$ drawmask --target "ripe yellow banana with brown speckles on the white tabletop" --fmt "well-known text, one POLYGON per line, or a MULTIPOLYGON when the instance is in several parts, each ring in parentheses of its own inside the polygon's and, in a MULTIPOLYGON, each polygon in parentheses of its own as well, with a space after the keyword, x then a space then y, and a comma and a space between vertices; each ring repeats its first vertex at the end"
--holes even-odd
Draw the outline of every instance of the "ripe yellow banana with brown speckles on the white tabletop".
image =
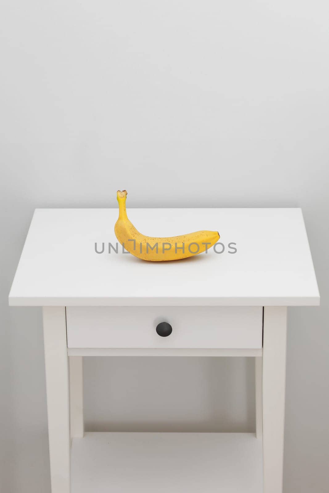
POLYGON ((142 235, 129 221, 126 211, 127 191, 116 194, 119 218, 115 223, 115 236, 124 248, 143 260, 159 262, 192 257, 211 248, 219 240, 218 231, 196 231, 171 238, 153 238, 142 235))

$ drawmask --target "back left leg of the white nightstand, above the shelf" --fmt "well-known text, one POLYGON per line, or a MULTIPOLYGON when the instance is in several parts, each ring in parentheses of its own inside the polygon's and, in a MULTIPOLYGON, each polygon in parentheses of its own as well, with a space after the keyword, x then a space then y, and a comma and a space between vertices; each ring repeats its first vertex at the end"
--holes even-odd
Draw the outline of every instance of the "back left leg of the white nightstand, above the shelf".
POLYGON ((83 438, 83 358, 70 356, 70 427, 72 438, 83 438))

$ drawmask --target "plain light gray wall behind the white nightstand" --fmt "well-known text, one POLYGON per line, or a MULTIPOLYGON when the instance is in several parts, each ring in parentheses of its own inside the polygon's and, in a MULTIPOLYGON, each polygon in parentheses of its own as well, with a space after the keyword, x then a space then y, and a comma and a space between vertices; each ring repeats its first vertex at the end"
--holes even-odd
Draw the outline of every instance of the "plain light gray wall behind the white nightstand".
MULTIPOLYGON (((33 211, 126 188, 131 208, 302 207, 322 306, 289 310, 284 492, 328 493, 328 2, 0 14, 1 492, 50 491, 41 311, 7 306, 33 211)), ((90 358, 87 428, 253 430, 253 377, 245 359, 90 358)))

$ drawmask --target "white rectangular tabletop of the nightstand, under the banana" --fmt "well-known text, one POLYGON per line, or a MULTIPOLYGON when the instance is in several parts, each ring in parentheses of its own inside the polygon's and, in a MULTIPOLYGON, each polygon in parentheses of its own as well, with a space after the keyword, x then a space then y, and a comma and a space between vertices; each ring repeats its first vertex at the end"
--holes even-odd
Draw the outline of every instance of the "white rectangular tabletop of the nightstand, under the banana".
POLYGON ((173 262, 146 262, 123 253, 120 245, 115 253, 117 217, 117 209, 37 209, 9 304, 301 306, 320 303, 300 209, 128 210, 136 228, 149 236, 219 231, 218 253, 211 248, 207 253, 173 262), (95 243, 98 251, 102 251, 104 243, 103 253, 95 251, 95 243), (109 243, 114 247, 110 253, 109 243))

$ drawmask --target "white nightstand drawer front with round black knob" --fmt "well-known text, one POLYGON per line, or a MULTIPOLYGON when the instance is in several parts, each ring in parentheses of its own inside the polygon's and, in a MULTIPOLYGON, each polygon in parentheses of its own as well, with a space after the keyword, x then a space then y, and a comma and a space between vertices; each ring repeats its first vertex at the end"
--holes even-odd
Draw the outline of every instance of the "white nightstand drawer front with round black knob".
POLYGON ((260 349, 262 307, 67 307, 69 348, 260 349))

